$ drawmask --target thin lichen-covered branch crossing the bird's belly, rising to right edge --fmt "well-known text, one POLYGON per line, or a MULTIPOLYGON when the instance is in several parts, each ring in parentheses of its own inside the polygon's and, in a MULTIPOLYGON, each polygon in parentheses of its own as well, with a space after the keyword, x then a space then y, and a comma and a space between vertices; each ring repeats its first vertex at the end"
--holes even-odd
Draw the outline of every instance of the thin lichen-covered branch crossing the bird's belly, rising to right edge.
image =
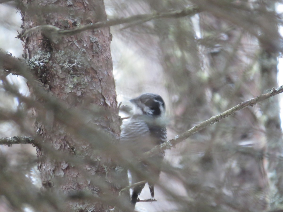
POLYGON ((244 109, 245 107, 248 106, 254 106, 256 103, 259 103, 267 98, 270 98, 272 96, 275 96, 277 94, 280 94, 283 92, 283 85, 280 86, 279 88, 275 89, 273 88, 271 92, 266 93, 266 94, 262 94, 260 96, 257 96, 255 98, 252 98, 250 100, 247 101, 243 101, 241 103, 239 103, 238 105, 236 105, 235 107, 232 107, 231 109, 220 113, 216 116, 213 116, 211 118, 209 118, 206 121, 201 122, 200 124, 192 127, 191 129, 189 129, 188 131, 182 133, 181 135, 177 135, 175 136, 174 139, 169 140, 168 142, 165 142, 163 144, 160 144, 158 146, 155 146, 153 149, 151 149, 148 152, 145 152, 143 154, 143 158, 148 158, 151 155, 154 155, 156 152, 160 151, 160 150, 167 150, 170 149, 171 147, 174 147, 176 144, 179 144, 180 142, 186 140, 188 137, 190 137, 191 135, 194 135, 195 133, 197 133, 198 131, 204 129, 205 127, 214 124, 216 122, 219 122, 221 119, 226 118, 228 116, 233 115, 235 112, 244 109))

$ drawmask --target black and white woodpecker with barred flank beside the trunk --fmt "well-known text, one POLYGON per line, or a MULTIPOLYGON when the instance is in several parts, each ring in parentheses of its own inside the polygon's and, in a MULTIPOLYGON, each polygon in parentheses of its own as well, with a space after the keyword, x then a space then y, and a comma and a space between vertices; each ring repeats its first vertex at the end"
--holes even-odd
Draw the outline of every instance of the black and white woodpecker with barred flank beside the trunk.
MULTIPOLYGON (((134 158, 166 142, 165 103, 161 96, 152 93, 142 94, 130 102, 135 105, 135 112, 123 128, 120 142, 130 150, 134 158)), ((159 179, 163 158, 164 152, 160 152, 130 168, 132 183, 147 181, 153 199, 154 184, 159 179)), ((133 188, 133 207, 144 186, 145 184, 141 184, 133 188)))

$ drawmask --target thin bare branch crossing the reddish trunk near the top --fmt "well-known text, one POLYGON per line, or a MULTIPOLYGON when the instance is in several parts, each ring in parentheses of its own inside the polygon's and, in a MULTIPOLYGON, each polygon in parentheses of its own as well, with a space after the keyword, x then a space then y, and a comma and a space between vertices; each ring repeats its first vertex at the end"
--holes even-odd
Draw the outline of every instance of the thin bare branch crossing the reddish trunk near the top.
POLYGON ((127 18, 115 18, 115 19, 110 19, 108 21, 102 21, 98 23, 90 23, 87 25, 82 25, 82 26, 75 27, 69 30, 62 30, 52 25, 41 25, 41 26, 36 26, 36 27, 33 27, 25 31, 22 35, 19 34, 18 38, 25 37, 28 34, 33 33, 34 31, 37 31, 37 30, 47 31, 48 33, 53 32, 53 33, 57 33, 57 35, 67 36, 67 35, 74 35, 74 34, 77 34, 77 33, 80 33, 86 30, 90 30, 90 29, 110 27, 110 26, 119 25, 123 23, 137 22, 138 24, 140 24, 140 23, 144 23, 146 21, 150 21, 150 20, 158 19, 158 18, 181 18, 185 16, 193 16, 198 12, 200 12, 200 9, 198 7, 190 6, 190 7, 185 7, 183 10, 174 10, 174 11, 164 12, 164 13, 154 12, 151 14, 140 14, 140 15, 130 16, 127 18))

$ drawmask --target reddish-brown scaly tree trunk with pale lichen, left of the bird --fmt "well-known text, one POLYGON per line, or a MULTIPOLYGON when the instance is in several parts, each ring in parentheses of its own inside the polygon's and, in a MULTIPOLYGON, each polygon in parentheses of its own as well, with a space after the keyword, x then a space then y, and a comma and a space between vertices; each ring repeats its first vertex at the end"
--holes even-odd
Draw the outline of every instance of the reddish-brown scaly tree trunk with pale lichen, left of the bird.
MULTIPOLYGON (((102 0, 60 0, 52 3, 25 0, 21 10, 24 30, 46 24, 70 29, 107 19, 102 0)), ((80 109, 76 115, 87 120, 86 126, 95 126, 99 132, 104 130, 114 137, 119 136, 120 119, 110 40, 109 28, 64 37, 55 37, 52 31, 36 31, 23 39, 24 57, 34 64, 37 80, 66 108, 71 109, 70 116, 61 113, 61 108, 35 111, 37 134, 47 144, 37 149, 42 186, 45 190, 53 191, 61 201, 62 198, 66 200, 63 207, 59 205, 60 201, 56 206, 64 211, 109 210, 111 204, 101 202, 99 198, 97 201, 70 199, 70 194, 80 199, 76 195, 78 191, 94 197, 102 196, 104 191, 99 181, 94 181, 91 176, 97 176, 96 179, 109 185, 113 193, 117 193, 122 186, 113 183, 111 175, 115 167, 110 157, 95 148, 106 141, 98 140, 99 137, 95 136, 87 137, 87 127, 81 126, 85 123, 76 120, 76 116, 72 117, 72 113, 76 113, 72 109, 80 109), (52 146, 51 149, 48 144, 52 146), (62 158, 59 157, 60 153, 62 158), (79 167, 70 163, 64 155, 75 155, 88 162, 79 167), (60 196, 62 192, 66 195, 60 196)), ((37 98, 35 90, 31 92, 37 98)), ((127 173, 123 172, 121 177, 127 178, 127 173)))

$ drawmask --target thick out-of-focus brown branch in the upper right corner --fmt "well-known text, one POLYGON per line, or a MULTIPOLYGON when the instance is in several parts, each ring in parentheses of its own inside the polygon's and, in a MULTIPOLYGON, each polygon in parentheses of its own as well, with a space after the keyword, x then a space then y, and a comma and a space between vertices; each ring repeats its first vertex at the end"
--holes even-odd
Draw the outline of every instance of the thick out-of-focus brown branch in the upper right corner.
POLYGON ((276 17, 274 11, 269 11, 266 5, 257 8, 249 7, 241 1, 192 0, 191 2, 198 5, 201 11, 210 12, 245 29, 258 38, 267 51, 272 53, 282 51, 282 36, 277 28, 280 18, 276 17))

